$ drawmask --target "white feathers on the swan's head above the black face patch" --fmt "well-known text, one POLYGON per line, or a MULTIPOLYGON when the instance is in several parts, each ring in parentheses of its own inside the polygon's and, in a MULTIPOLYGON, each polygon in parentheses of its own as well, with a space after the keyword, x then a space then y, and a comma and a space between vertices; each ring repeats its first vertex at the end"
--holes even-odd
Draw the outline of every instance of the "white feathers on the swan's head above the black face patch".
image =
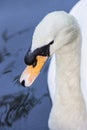
POLYGON ((67 40, 72 40, 70 35, 73 35, 72 31, 77 33, 76 30, 74 30, 74 27, 77 25, 73 16, 64 11, 49 13, 35 28, 31 51, 34 51, 36 48, 43 45, 47 45, 54 40, 54 44, 50 46, 50 55, 52 55, 55 50, 62 46, 62 44, 66 44, 67 40), (72 31, 70 32, 70 30, 72 31), (68 35, 65 35, 66 32, 68 35), (62 35, 65 35, 65 37, 62 38, 62 35), (58 44, 56 41, 58 41, 58 44))

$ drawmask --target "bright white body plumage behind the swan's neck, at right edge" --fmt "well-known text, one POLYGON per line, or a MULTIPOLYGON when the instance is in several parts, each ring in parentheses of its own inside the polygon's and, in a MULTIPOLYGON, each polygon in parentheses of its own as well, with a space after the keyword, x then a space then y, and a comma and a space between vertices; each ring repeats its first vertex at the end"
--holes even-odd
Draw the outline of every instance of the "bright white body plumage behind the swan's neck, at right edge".
POLYGON ((78 20, 82 32, 81 48, 81 89, 87 108, 87 0, 80 0, 71 10, 78 20))

